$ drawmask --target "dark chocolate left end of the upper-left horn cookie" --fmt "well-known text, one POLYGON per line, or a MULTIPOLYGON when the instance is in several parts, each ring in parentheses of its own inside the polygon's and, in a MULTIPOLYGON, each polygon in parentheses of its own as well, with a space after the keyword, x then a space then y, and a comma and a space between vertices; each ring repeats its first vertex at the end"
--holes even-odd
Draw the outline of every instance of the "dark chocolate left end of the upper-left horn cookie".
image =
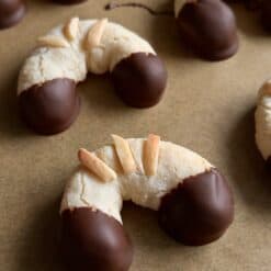
POLYGON ((76 120, 80 99, 70 79, 54 79, 19 95, 22 118, 35 132, 50 135, 68 128, 76 120))

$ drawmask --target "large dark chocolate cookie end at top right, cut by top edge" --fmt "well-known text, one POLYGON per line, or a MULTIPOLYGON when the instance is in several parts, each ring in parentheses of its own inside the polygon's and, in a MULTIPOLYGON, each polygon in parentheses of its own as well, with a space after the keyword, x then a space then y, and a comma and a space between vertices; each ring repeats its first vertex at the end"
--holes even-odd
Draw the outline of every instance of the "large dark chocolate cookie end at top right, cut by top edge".
POLYGON ((238 49, 235 15, 221 0, 188 1, 177 23, 181 39, 202 58, 222 60, 238 49))

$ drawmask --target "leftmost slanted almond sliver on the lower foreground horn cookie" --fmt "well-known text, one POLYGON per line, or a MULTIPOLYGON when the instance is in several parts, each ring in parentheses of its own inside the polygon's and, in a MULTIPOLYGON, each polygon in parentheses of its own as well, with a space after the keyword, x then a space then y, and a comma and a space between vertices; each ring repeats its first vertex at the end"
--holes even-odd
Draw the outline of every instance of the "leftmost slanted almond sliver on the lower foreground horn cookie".
POLYGON ((80 148, 78 151, 78 158, 86 168, 95 173, 103 182, 116 179, 115 171, 87 149, 80 148))

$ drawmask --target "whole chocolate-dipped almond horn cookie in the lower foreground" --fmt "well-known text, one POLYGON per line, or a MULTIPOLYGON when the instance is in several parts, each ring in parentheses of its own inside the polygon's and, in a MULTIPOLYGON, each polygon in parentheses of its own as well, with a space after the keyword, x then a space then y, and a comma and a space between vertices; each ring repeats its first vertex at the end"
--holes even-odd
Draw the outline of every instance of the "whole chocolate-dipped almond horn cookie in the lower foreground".
POLYGON ((71 270, 128 270, 133 246, 123 201, 157 211, 161 228, 185 245, 208 244, 226 232, 232 191, 207 160, 156 135, 112 137, 113 145, 79 150, 81 166, 64 191, 61 249, 71 270))

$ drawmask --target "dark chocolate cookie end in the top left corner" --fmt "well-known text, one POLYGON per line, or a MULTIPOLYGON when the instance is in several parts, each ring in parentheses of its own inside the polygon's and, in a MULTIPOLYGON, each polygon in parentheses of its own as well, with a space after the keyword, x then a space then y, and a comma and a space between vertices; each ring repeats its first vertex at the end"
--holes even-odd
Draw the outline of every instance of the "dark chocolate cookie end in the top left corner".
POLYGON ((0 0, 0 30, 19 23, 26 8, 23 0, 0 0))

